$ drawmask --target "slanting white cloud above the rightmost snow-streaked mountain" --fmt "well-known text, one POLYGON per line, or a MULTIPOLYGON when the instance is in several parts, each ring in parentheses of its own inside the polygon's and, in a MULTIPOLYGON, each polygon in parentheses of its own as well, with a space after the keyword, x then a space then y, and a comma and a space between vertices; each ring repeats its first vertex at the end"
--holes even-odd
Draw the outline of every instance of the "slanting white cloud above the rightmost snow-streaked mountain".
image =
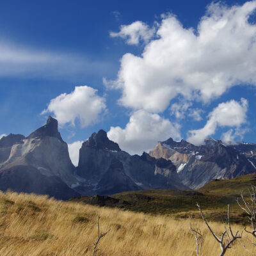
MULTIPOLYGON (((202 145, 205 138, 215 133, 218 126, 240 127, 246 122, 246 112, 248 102, 241 99, 241 103, 236 100, 223 102, 213 109, 208 115, 208 121, 202 129, 189 131, 188 141, 195 145, 202 145)), ((230 135, 227 134, 226 137, 230 135)))

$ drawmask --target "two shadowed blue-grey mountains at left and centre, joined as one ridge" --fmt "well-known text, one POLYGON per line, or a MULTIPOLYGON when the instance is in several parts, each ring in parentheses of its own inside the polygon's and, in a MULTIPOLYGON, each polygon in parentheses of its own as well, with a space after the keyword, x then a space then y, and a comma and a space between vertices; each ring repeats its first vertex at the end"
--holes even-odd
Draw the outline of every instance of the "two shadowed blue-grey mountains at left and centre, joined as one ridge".
POLYGON ((67 143, 51 116, 28 137, 10 134, 0 140, 0 189, 68 199, 79 195, 110 195, 150 188, 186 189, 170 160, 147 153, 131 156, 108 139, 93 133, 79 152, 75 167, 67 143))

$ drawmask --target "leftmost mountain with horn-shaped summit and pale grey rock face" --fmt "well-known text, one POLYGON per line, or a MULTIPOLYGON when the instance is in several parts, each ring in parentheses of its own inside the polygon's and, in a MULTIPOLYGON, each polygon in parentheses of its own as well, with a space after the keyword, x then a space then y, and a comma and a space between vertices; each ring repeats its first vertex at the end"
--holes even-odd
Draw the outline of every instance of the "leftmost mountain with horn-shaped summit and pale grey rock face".
POLYGON ((69 188, 77 181, 75 167, 68 156, 67 143, 58 132, 58 122, 51 116, 27 138, 19 134, 3 137, 0 152, 1 190, 10 188, 60 199, 79 195, 69 188))

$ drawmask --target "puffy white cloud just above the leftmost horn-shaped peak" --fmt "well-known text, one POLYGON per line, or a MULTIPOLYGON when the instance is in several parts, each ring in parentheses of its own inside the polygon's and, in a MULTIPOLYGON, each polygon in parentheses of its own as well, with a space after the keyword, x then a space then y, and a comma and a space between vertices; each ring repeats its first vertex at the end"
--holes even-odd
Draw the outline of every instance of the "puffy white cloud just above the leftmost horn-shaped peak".
POLYGON ((52 99, 42 114, 53 112, 60 124, 75 124, 79 119, 81 127, 95 124, 99 115, 106 110, 104 97, 89 86, 76 86, 72 93, 62 93, 52 99))

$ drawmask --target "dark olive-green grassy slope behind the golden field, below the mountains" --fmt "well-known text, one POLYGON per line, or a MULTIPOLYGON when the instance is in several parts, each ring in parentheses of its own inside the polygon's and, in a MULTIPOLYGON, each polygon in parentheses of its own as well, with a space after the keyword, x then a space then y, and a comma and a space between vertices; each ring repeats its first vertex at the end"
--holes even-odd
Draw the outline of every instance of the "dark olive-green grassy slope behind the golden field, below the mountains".
POLYGON ((124 209, 152 214, 169 214, 175 218, 189 215, 200 218, 196 202, 206 211, 211 220, 223 221, 226 218, 227 204, 233 209, 232 221, 244 222, 244 212, 237 206, 236 199, 241 191, 256 185, 256 173, 232 180, 212 180, 197 191, 177 191, 173 189, 150 189, 127 191, 113 195, 114 198, 129 202, 124 209))

